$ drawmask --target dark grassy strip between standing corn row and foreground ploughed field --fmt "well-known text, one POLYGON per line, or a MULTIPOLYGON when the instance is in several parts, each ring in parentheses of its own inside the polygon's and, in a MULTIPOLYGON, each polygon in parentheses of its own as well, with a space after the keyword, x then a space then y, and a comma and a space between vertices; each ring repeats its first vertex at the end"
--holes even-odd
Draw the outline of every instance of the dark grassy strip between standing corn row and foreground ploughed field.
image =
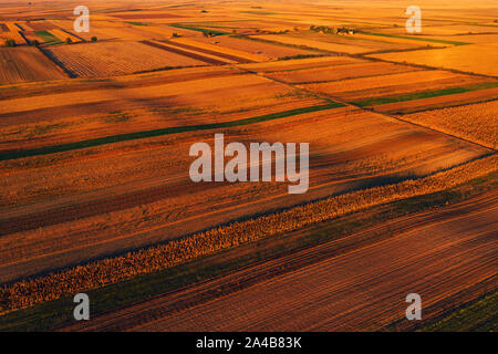
MULTIPOLYGON (((92 315, 110 312, 134 302, 173 291, 196 281, 237 270, 241 267, 276 258, 303 247, 355 233, 362 229, 413 212, 422 212, 448 204, 460 202, 498 187, 498 174, 494 173, 467 181, 456 188, 414 197, 384 207, 373 207, 339 219, 308 227, 298 231, 301 237, 281 235, 259 240, 238 249, 203 257, 159 272, 138 275, 131 280, 86 292, 92 302, 92 315), (304 235, 304 237, 302 237, 304 235), (248 249, 249 252, 240 250, 248 249)), ((390 237, 390 236, 386 236, 390 237)), ((46 331, 72 321, 72 296, 39 303, 0 316, 0 331, 46 331)))

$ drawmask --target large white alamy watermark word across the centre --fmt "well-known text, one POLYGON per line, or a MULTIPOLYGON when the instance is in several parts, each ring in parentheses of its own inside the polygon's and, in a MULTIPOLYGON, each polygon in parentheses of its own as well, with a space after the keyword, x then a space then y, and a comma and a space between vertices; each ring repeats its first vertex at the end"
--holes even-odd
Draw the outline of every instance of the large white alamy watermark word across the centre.
POLYGON ((242 143, 225 146, 224 134, 216 134, 214 149, 207 143, 196 143, 190 147, 190 156, 197 157, 189 171, 195 183, 283 183, 287 177, 289 183, 294 184, 288 187, 289 194, 304 194, 309 188, 309 143, 300 143, 299 153, 297 143, 250 143, 247 148, 242 143), (225 157, 231 159, 225 164, 225 157))

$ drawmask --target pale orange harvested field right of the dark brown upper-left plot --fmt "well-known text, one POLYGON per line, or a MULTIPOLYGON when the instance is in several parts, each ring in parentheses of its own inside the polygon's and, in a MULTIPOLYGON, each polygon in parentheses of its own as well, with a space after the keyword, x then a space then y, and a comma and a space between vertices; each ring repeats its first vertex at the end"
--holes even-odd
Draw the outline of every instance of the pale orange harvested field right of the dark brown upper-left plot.
POLYGON ((164 53, 136 42, 84 43, 51 49, 53 55, 69 70, 83 77, 124 75, 168 66, 204 64, 191 58, 164 53))

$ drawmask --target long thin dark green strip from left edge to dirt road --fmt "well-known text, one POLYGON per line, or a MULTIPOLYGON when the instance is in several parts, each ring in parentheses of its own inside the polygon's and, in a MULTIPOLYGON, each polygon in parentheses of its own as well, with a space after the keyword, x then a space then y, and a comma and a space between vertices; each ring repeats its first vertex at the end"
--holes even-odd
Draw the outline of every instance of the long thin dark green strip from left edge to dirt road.
POLYGON ((157 136, 163 136, 163 135, 250 125, 250 124, 268 122, 268 121, 273 121, 273 119, 280 119, 280 118, 286 118, 286 117, 311 113, 311 112, 338 108, 338 107, 342 107, 342 106, 344 106, 344 105, 341 103, 332 103, 332 104, 324 104, 324 105, 319 105, 319 106, 311 106, 311 107, 297 108, 297 110, 291 110, 291 111, 286 111, 286 112, 279 112, 279 113, 273 113, 273 114, 267 114, 267 115, 261 115, 261 116, 245 118, 245 119, 238 119, 238 121, 211 123, 211 124, 199 124, 199 125, 187 125, 187 126, 176 126, 176 127, 154 129, 154 131, 145 131, 145 132, 136 132, 136 133, 105 136, 105 137, 100 137, 100 138, 95 138, 95 139, 81 140, 81 142, 68 143, 68 144, 55 145, 55 146, 45 146, 45 147, 33 148, 33 149, 15 150, 15 152, 0 154, 0 162, 23 158, 23 157, 32 157, 32 156, 55 154, 55 153, 62 153, 62 152, 70 152, 70 150, 83 149, 83 148, 87 148, 87 147, 95 147, 95 146, 101 146, 101 145, 106 145, 106 144, 129 142, 129 140, 143 139, 143 138, 149 138, 149 137, 157 137, 157 136))

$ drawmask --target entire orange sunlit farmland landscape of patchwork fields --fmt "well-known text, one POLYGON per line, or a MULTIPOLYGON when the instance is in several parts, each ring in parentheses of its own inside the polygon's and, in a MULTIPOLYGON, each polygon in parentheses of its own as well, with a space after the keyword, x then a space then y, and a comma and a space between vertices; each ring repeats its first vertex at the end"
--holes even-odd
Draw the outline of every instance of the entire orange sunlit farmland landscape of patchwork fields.
POLYGON ((0 0, 0 331, 498 330, 498 1, 83 2, 0 0))

